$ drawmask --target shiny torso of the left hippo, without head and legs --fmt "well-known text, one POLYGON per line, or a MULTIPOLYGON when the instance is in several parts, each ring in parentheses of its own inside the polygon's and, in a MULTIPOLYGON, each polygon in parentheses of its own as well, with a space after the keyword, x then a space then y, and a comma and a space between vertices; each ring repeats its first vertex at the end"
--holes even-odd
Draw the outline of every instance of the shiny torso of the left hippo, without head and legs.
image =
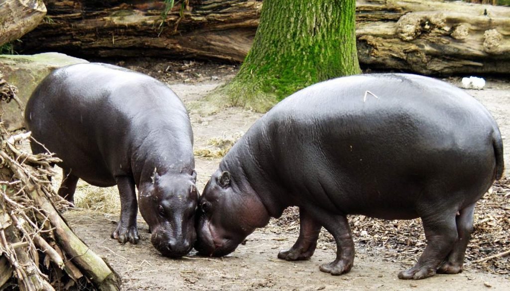
POLYGON ((97 186, 115 184, 116 175, 134 175, 138 182, 141 169, 134 165, 150 158, 194 161, 191 124, 179 97, 152 77, 115 66, 55 70, 32 94, 25 122, 37 141, 62 158, 63 168, 97 186))

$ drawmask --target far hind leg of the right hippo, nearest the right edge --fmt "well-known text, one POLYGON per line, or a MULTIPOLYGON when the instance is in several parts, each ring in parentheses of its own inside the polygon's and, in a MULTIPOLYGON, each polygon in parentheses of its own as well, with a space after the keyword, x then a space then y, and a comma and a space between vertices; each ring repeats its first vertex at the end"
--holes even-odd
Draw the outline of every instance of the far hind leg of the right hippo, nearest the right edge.
POLYGON ((439 266, 439 274, 458 274, 462 272, 464 255, 468 246, 471 233, 473 232, 473 215, 475 204, 459 211, 455 221, 457 224, 458 239, 446 260, 439 266))

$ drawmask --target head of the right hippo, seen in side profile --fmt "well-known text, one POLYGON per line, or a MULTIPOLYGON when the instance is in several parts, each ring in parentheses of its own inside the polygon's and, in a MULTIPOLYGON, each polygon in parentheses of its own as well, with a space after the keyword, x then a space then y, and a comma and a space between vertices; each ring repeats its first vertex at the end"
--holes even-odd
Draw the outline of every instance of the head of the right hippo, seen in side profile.
MULTIPOLYGON (((243 180, 246 182, 246 180, 243 180)), ((233 252, 257 227, 269 222, 269 214, 257 193, 217 170, 199 199, 196 217, 200 255, 224 256, 233 252)))

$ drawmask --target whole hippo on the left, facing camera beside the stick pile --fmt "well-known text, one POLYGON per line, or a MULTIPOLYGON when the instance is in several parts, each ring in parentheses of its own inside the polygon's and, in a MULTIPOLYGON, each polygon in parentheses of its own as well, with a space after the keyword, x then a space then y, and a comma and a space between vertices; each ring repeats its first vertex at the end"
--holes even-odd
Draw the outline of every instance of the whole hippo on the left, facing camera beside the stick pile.
POLYGON ((114 239, 138 243, 136 186, 152 245, 170 257, 191 250, 198 201, 193 133, 184 104, 165 84, 112 65, 66 66, 36 88, 25 124, 37 141, 34 153, 62 159, 60 196, 74 202, 79 178, 117 185, 114 239))

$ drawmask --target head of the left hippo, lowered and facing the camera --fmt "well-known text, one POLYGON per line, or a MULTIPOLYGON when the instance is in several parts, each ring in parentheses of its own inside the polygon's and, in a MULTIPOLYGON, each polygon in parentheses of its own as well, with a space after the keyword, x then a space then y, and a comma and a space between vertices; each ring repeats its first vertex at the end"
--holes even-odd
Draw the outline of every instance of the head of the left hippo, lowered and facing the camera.
POLYGON ((193 248, 198 201, 195 182, 195 170, 161 176, 155 171, 150 182, 140 185, 140 213, 149 225, 150 242, 164 256, 181 257, 193 248))

